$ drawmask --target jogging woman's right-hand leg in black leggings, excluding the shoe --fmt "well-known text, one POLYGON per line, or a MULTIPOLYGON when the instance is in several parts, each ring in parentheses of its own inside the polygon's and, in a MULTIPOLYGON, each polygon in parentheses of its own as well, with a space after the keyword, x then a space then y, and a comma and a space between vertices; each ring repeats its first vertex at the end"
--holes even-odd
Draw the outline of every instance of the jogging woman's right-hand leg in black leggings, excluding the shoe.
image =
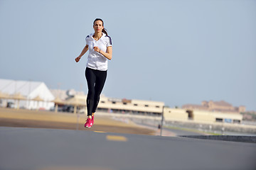
POLYGON ((96 112, 97 105, 100 101, 100 94, 104 87, 105 81, 107 78, 107 71, 99 71, 97 70, 97 78, 95 81, 95 96, 94 96, 94 103, 92 108, 92 113, 96 112))

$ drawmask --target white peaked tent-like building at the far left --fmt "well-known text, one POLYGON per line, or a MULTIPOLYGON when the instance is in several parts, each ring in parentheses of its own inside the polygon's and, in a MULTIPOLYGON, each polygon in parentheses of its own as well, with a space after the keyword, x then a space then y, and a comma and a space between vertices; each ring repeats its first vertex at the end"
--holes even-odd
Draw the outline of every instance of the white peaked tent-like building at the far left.
MULTIPOLYGON (((54 96, 43 82, 40 81, 16 81, 10 79, 0 79, 0 92, 9 96, 20 94, 24 100, 19 101, 19 108, 26 109, 46 109, 49 110, 54 106, 54 96), (41 98, 42 101, 33 101, 33 98, 41 98)), ((1 99, 1 106, 6 107, 8 102, 14 103, 14 108, 17 107, 17 102, 14 99, 1 99)))

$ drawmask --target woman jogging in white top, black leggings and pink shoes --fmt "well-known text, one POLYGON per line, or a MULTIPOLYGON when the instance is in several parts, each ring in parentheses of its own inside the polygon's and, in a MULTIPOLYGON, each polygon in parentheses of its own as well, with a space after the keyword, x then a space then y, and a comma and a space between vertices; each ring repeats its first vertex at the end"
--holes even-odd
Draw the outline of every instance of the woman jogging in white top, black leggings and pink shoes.
POLYGON ((94 123, 94 114, 107 78, 107 60, 112 59, 112 40, 107 35, 102 19, 96 18, 93 22, 93 28, 95 33, 87 35, 84 49, 75 58, 75 62, 79 62, 82 55, 89 50, 85 69, 85 78, 88 86, 86 99, 88 117, 85 128, 91 128, 94 123))

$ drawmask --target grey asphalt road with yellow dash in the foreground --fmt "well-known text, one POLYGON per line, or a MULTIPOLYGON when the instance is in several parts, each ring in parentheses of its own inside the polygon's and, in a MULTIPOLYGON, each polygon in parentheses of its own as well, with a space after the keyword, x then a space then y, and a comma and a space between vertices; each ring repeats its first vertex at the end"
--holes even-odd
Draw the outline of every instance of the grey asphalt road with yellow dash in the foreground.
POLYGON ((0 169, 256 169, 256 145, 87 130, 0 128, 0 169))

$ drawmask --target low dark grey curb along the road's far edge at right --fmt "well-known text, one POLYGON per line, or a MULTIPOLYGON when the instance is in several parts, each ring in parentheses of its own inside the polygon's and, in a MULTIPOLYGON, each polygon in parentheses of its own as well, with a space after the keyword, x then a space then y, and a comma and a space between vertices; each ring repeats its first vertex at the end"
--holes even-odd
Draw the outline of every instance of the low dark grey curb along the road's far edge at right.
POLYGON ((224 140, 224 141, 232 141, 232 142, 248 142, 248 143, 256 143, 256 136, 233 136, 233 135, 185 135, 179 137, 190 137, 201 140, 224 140))

